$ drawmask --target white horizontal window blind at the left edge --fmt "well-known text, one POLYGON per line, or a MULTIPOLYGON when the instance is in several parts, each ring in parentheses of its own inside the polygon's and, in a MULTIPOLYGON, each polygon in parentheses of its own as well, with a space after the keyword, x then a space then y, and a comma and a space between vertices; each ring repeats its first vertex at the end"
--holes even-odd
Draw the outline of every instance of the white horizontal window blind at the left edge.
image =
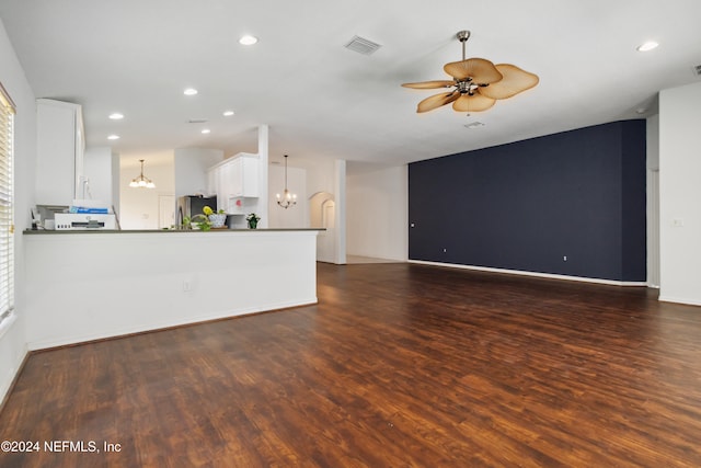
POLYGON ((0 322, 14 309, 14 103, 0 83, 0 322))

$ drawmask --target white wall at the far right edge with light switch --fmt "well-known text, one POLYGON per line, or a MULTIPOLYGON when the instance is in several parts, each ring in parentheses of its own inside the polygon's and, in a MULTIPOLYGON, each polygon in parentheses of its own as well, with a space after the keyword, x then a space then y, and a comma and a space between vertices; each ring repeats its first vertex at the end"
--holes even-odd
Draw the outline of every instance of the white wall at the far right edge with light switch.
POLYGON ((701 305, 701 83, 659 93, 659 299, 701 305))

